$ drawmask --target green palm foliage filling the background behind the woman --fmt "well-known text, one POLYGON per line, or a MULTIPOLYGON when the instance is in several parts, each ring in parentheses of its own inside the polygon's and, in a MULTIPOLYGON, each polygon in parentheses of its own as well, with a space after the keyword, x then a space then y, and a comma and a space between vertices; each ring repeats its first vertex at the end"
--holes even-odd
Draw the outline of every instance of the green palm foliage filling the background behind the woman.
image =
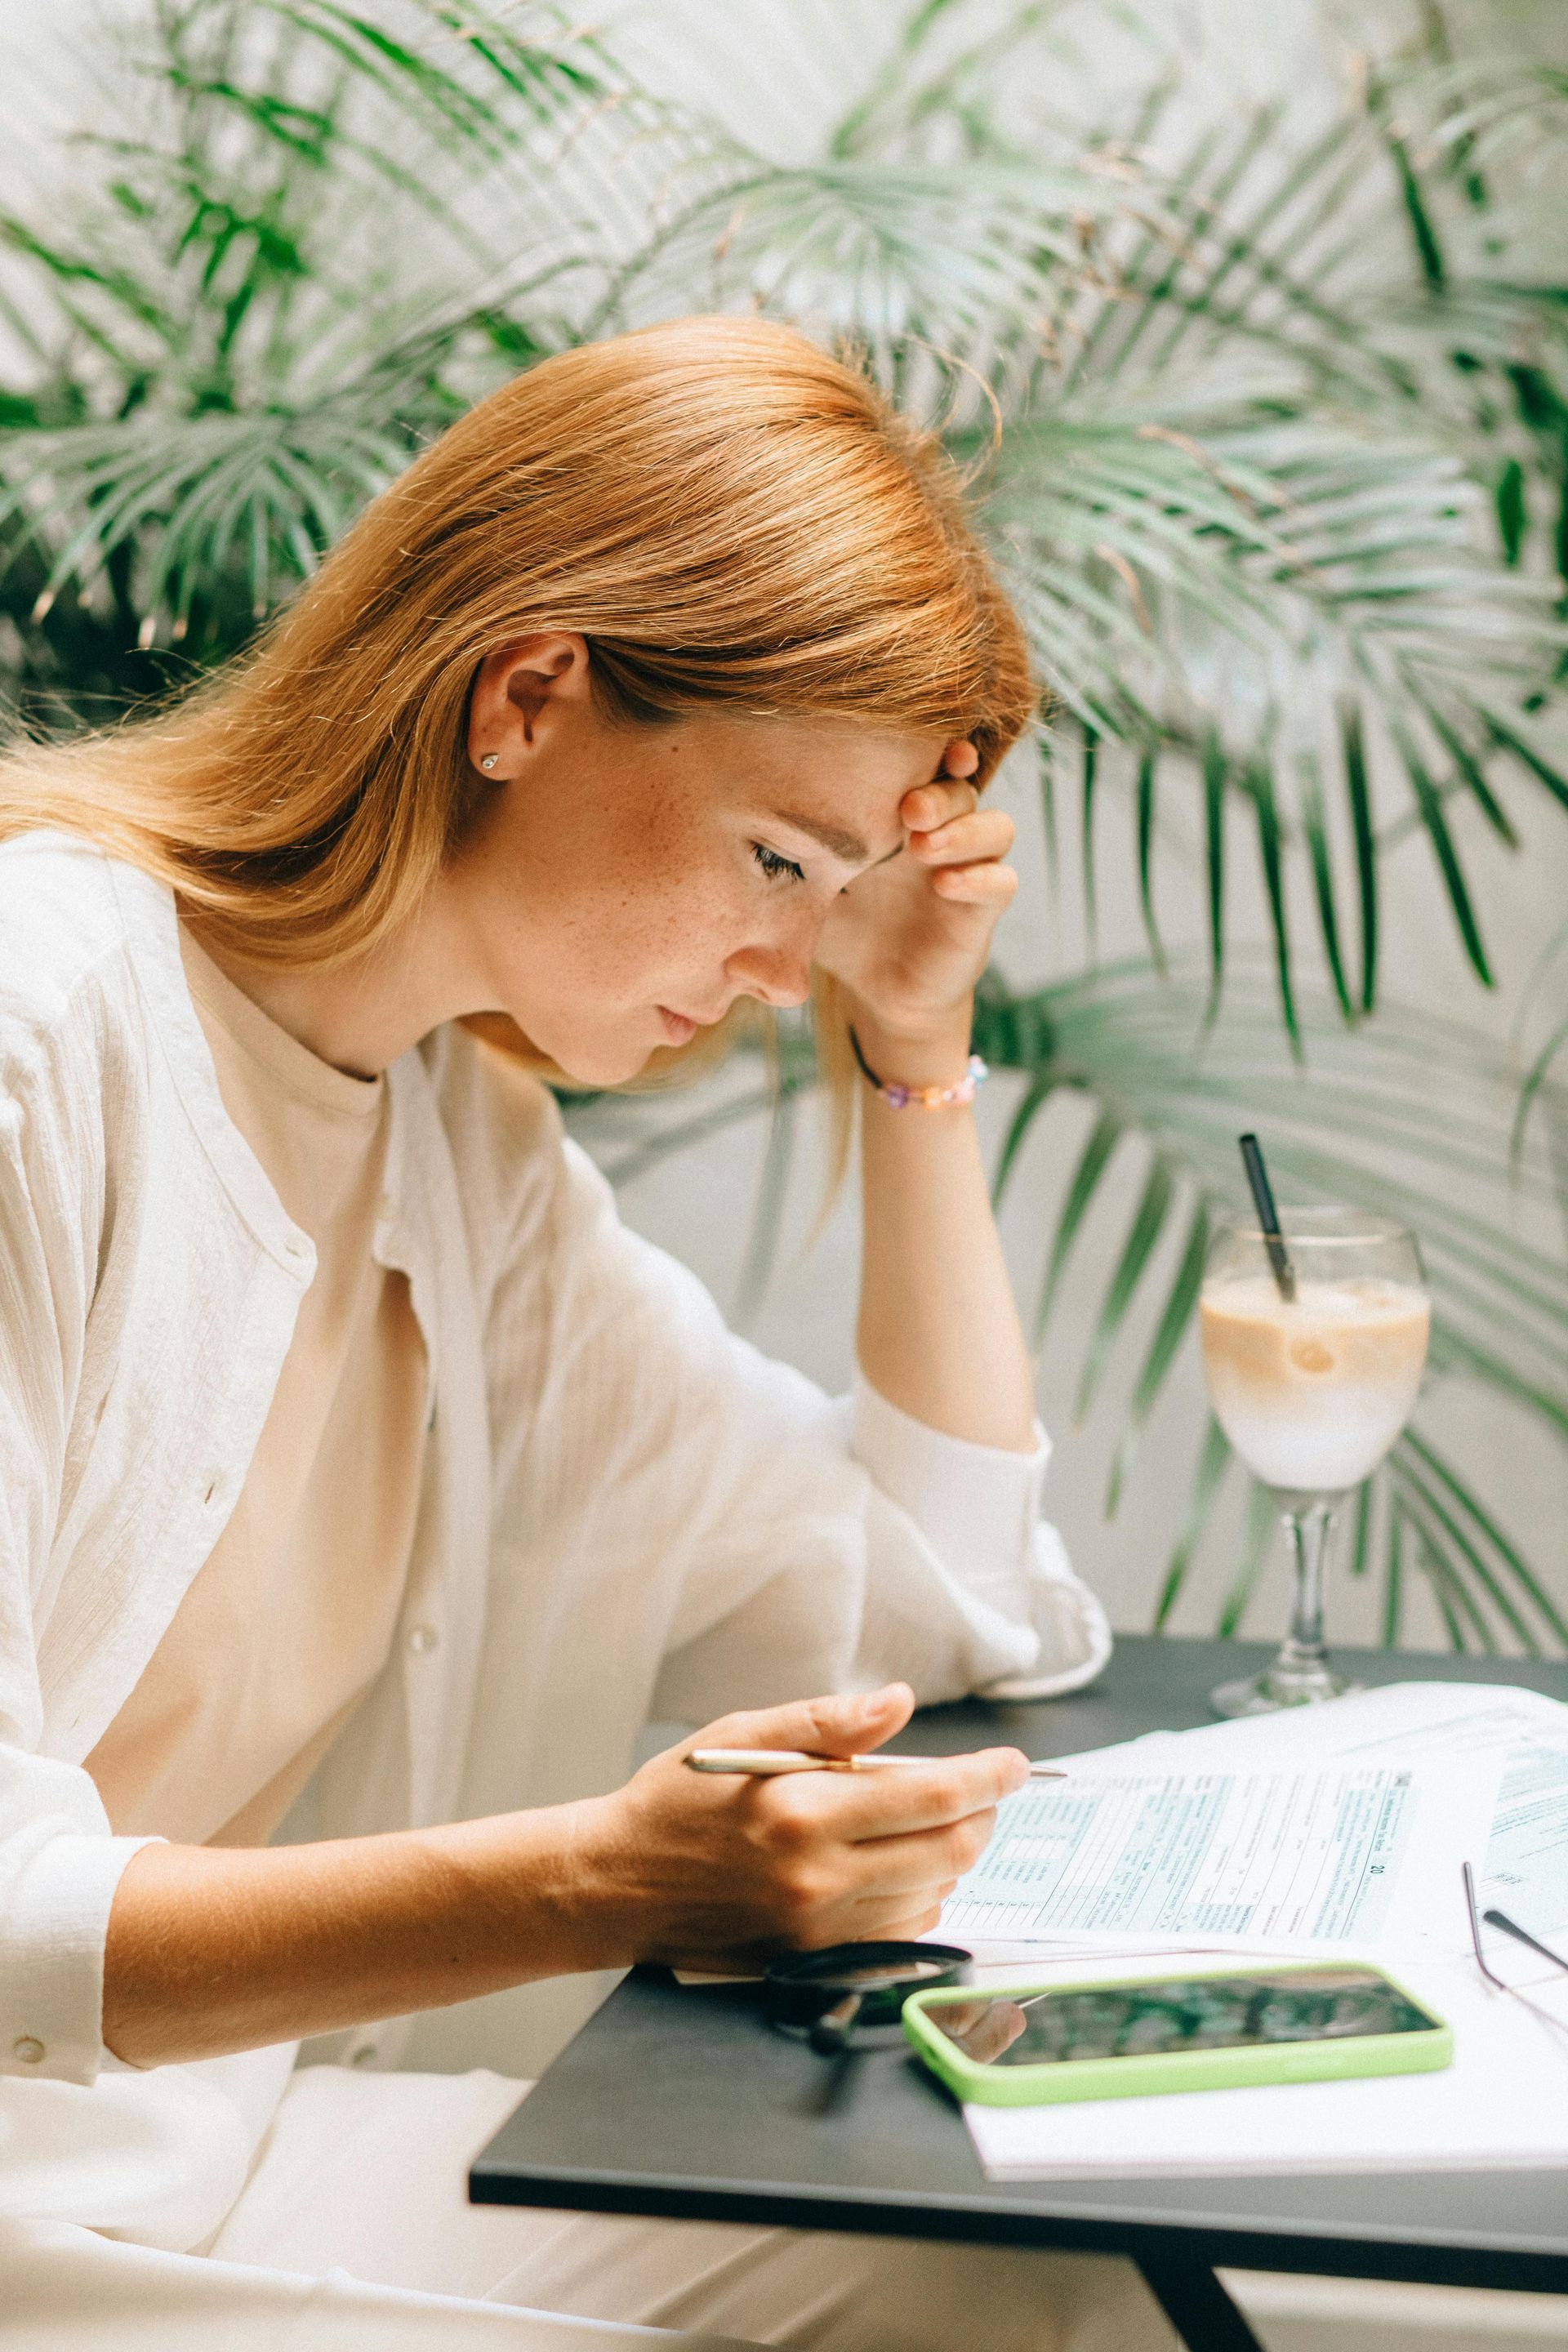
MULTIPOLYGON (((844 339, 971 475, 1053 696, 1013 788, 1088 946, 1044 985, 994 971, 976 1042, 1016 1073, 999 1188, 1030 1183, 1051 1105, 1084 1105, 1041 1334, 1112 1162, 1138 1162, 1077 1376, 1088 1414, 1128 1362, 1105 1508, 1248 1122, 1295 1197, 1420 1230, 1439 1385, 1568 1444, 1568 934, 1540 941, 1512 1056, 1462 1004, 1380 990, 1401 844, 1425 842, 1486 990, 1472 830, 1514 849, 1568 818, 1568 308, 1542 228, 1568 78, 1507 47, 1502 7, 1455 47, 1434 0, 1347 52, 1331 108, 1241 111, 1147 28, 1091 73, 1091 0, 731 7, 755 82, 769 45, 780 71, 818 59, 783 155, 722 73, 693 103, 672 59, 701 26, 661 45, 661 16, 618 42, 480 0, 129 12, 113 132, 0 219, 7 701, 71 727, 228 656, 425 435, 574 339, 724 306, 844 339), (1107 809, 1143 946, 1100 962, 1107 809), (1239 889, 1262 953, 1237 946, 1239 889)), ((621 1108, 599 1141, 625 1174, 771 1115, 755 1291, 811 1084, 790 1028, 771 1070, 621 1108)), ((1211 1423, 1157 1625, 1239 1477, 1211 1423)), ((1222 1630, 1267 1524, 1253 1508, 1222 1630)), ((1361 1494, 1352 1564, 1373 1562, 1389 1639, 1420 1576, 1455 1646, 1568 1644, 1561 1564, 1425 1409, 1361 1494)))

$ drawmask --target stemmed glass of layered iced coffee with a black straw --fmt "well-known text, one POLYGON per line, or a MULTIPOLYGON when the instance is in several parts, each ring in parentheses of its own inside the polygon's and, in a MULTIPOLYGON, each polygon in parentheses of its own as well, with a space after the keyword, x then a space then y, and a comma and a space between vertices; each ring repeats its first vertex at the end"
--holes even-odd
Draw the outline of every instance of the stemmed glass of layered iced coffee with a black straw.
POLYGON ((1347 1689, 1324 1649, 1335 1517, 1410 1418, 1432 1327, 1420 1251, 1399 1225, 1361 1209, 1284 1209, 1279 1223, 1284 1251, 1255 1223, 1222 1225, 1199 1296, 1215 1416, 1274 1489, 1295 1569, 1284 1649, 1211 1693, 1220 1715, 1347 1689))

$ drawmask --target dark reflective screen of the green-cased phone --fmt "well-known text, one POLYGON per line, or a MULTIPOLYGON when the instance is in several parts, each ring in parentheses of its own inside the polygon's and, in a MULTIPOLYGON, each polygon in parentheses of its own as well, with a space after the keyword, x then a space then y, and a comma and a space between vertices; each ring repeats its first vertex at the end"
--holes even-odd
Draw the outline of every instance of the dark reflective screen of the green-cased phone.
POLYGON ((1267 2042, 1354 2042, 1436 2032, 1439 2020, 1375 1969, 1248 1969, 1143 1985, 976 1994, 926 2009, 926 2023, 973 2065, 1067 2065, 1161 2058, 1267 2042))

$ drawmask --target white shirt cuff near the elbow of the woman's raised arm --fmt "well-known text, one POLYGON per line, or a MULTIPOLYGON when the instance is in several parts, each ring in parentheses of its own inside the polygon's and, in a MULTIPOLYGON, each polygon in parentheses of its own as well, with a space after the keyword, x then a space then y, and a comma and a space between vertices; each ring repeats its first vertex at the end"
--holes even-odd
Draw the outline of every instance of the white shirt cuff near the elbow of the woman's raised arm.
POLYGON ((856 1374, 849 1449, 924 1534, 943 1566, 980 1599, 1027 1613, 1039 1489, 1051 1439, 1034 1423, 1034 1451, 973 1446, 912 1421, 856 1374))

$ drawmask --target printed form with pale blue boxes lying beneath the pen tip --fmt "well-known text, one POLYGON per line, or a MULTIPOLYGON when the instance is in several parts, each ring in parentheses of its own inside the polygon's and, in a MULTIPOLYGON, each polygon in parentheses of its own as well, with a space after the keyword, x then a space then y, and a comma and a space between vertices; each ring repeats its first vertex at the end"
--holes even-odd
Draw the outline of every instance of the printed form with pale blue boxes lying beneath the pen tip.
POLYGON ((1410 1773, 1074 1773, 1006 1797, 943 1910, 985 1940, 1368 1943, 1413 1825, 1410 1773))

